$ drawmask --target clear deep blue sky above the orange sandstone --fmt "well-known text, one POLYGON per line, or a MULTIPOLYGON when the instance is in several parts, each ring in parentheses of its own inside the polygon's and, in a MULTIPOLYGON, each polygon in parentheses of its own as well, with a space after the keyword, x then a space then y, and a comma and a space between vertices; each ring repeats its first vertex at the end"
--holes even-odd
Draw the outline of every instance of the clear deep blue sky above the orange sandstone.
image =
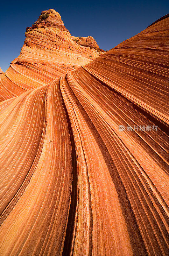
POLYGON ((109 50, 136 35, 168 13, 169 1, 2 1, 0 12, 0 67, 5 71, 18 57, 40 13, 50 8, 60 13, 73 36, 93 36, 99 47, 109 50))

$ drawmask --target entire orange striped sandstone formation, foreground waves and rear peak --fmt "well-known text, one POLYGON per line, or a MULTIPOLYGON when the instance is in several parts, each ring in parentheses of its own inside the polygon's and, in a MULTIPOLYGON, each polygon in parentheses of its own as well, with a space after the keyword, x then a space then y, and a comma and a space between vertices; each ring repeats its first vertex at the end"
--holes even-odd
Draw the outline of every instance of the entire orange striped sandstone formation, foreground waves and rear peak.
POLYGON ((0 255, 167 256, 169 16, 84 65, 48 12, 1 72, 0 255))

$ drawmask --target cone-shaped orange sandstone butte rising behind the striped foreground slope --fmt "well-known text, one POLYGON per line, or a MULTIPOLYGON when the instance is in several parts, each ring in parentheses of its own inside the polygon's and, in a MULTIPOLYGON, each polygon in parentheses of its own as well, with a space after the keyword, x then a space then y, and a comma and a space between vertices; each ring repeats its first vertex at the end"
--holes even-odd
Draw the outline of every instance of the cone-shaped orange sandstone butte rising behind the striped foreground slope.
POLYGON ((104 52, 91 36, 82 38, 85 45, 74 41, 53 9, 43 11, 32 27, 26 28, 25 36, 20 55, 0 78, 0 101, 49 84, 104 52), (45 14, 48 17, 42 19, 45 14))

